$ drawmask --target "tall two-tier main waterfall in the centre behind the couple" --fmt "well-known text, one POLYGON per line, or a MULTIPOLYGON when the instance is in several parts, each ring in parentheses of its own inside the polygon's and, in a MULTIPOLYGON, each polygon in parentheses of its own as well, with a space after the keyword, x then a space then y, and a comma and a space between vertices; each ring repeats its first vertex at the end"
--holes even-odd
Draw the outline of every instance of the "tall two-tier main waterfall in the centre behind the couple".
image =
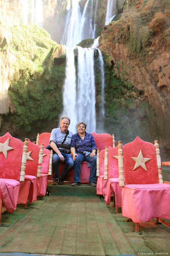
MULTIPOLYGON (((87 123, 87 132, 96 131, 95 112, 95 72, 94 52, 98 46, 98 39, 91 48, 75 46, 83 39, 94 38, 95 25, 92 26, 93 0, 87 0, 81 16, 79 0, 72 0, 72 8, 67 14, 66 28, 61 44, 68 47, 66 50, 66 79, 63 87, 63 113, 71 118, 70 130, 76 132, 76 124, 79 121, 87 123), (78 55, 78 63, 75 62, 75 54, 78 55)), ((96 1, 95 17, 98 0, 96 1)), ((98 130, 103 132, 104 117, 104 65, 100 50, 98 57, 98 69, 101 76, 101 103, 100 126, 98 130)))

